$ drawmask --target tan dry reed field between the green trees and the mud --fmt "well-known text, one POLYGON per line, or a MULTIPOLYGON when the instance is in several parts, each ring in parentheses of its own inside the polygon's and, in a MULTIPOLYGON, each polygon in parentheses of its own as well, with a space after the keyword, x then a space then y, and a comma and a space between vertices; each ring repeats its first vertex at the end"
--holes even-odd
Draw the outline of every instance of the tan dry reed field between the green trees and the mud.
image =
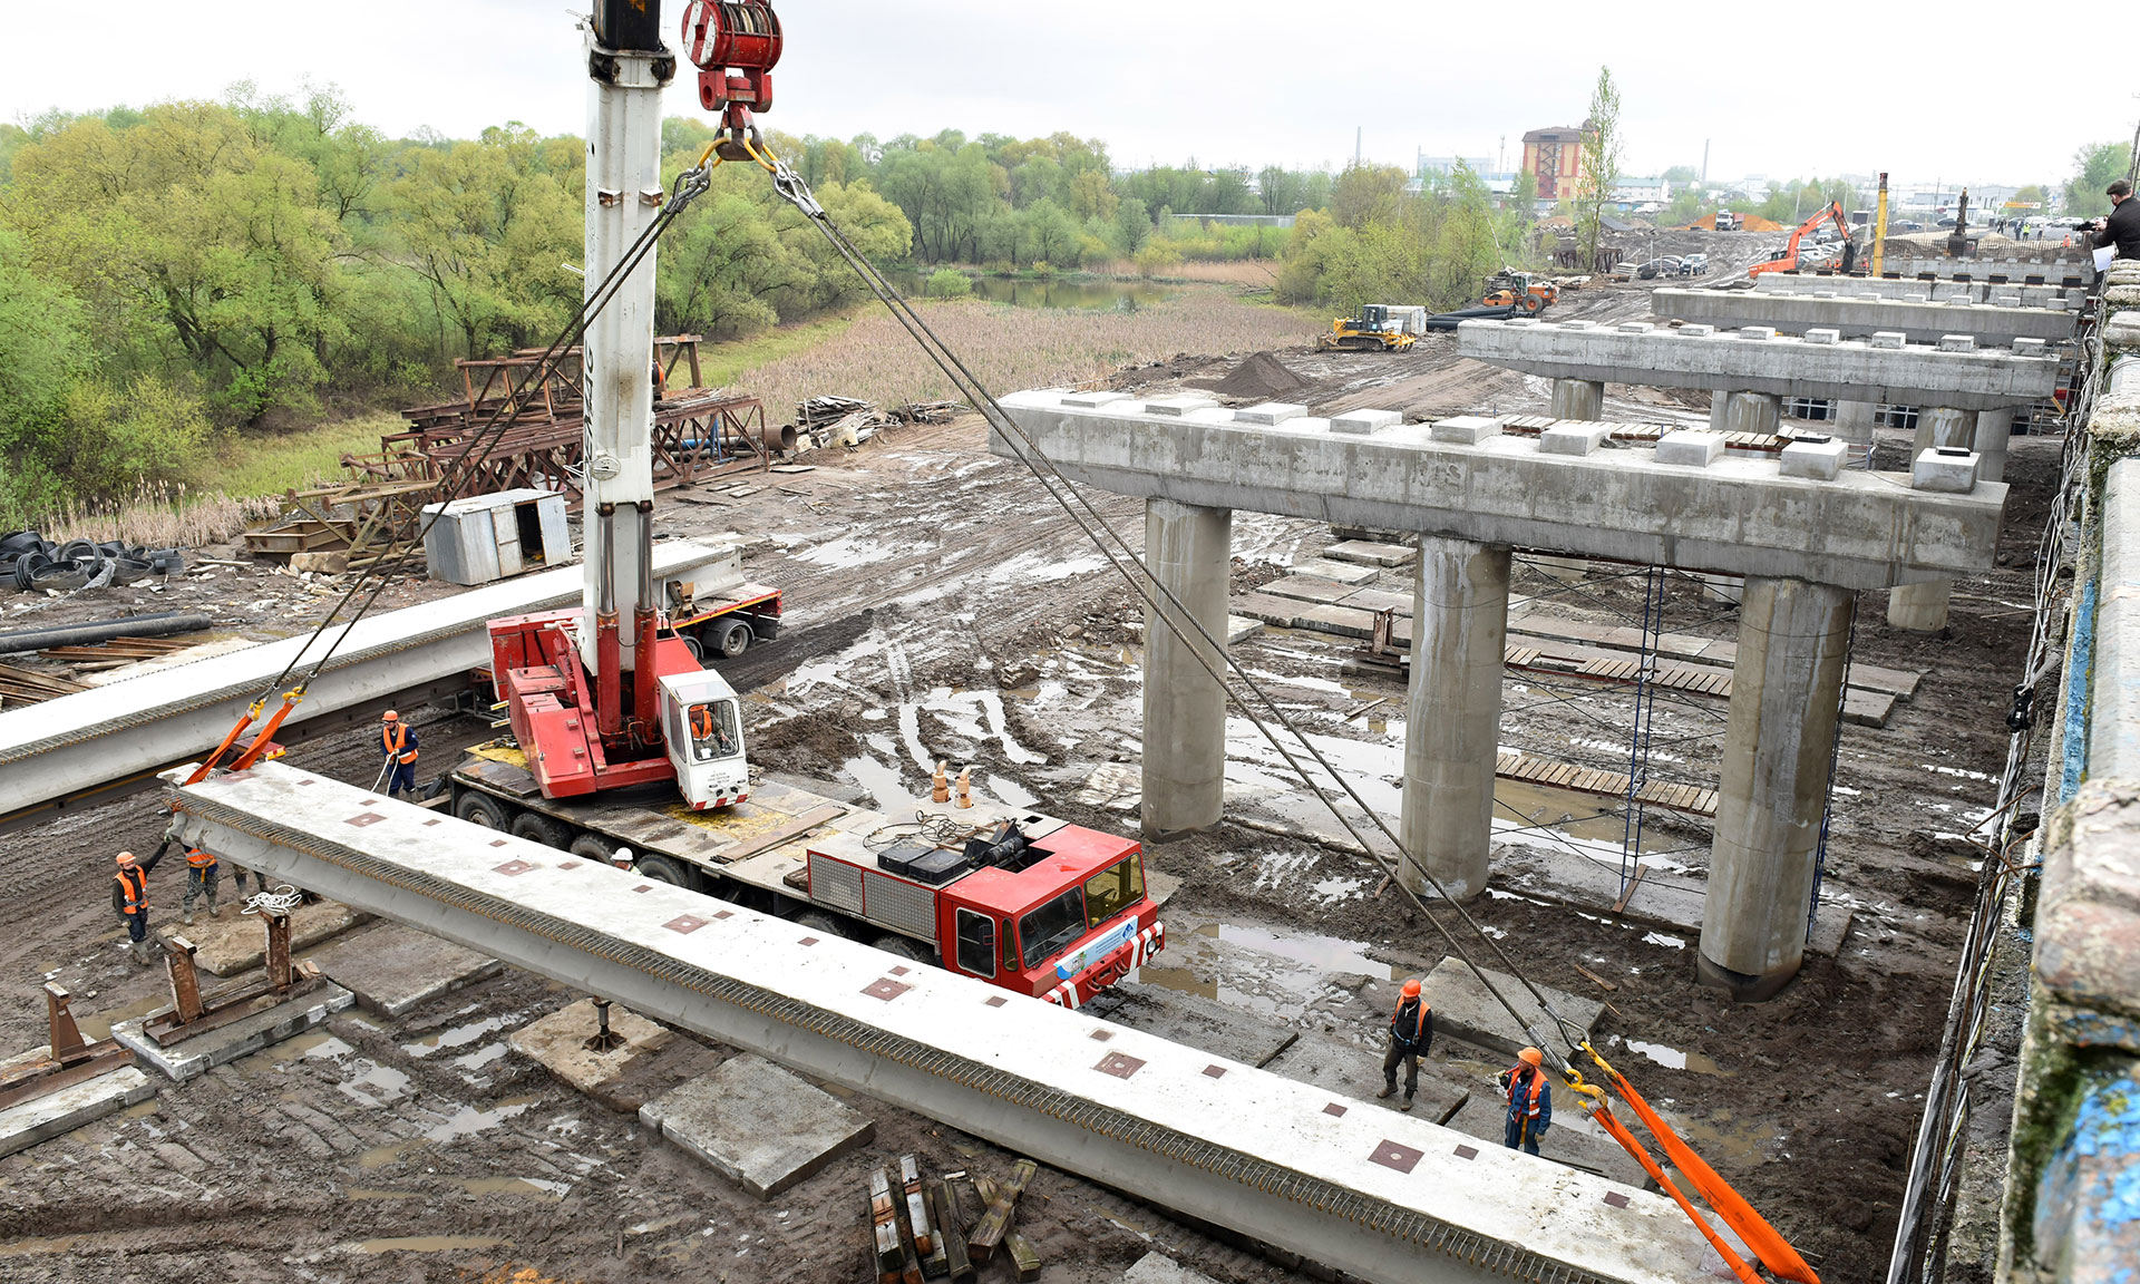
MULTIPOLYGON (((1085 383, 1181 353, 1230 355, 1297 345, 1316 332, 1305 312, 1248 304, 1222 291, 1192 291, 1136 312, 984 302, 916 302, 916 308, 997 396, 1085 383)), ((860 317, 837 340, 747 370, 738 389, 764 400, 775 422, 794 415, 802 400, 828 394, 880 407, 959 396, 882 310, 860 317)))

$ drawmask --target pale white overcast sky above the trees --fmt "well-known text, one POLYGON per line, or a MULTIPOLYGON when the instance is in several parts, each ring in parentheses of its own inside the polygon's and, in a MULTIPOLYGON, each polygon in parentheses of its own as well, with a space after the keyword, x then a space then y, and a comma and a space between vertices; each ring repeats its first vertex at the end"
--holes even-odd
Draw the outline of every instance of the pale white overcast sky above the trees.
MULTIPOLYGON (((578 0, 584 4, 584 0, 578 0)), ((214 0, 105 11, 9 0, 0 120, 60 107, 338 86, 389 135, 471 137, 520 120, 584 128, 567 0, 214 0), (109 26, 109 24, 118 26, 109 26), (111 43, 111 41, 118 43, 111 43), (66 58, 56 56, 68 49, 66 58), (83 49, 94 49, 83 56, 83 49), (43 51, 43 54, 41 54, 43 51)), ((1909 56, 1843 11, 1744 4, 1280 4, 1275 0, 777 0, 788 51, 766 122, 877 137, 1072 131, 1115 163, 1342 165, 1415 152, 1513 167, 1528 128, 1584 118, 1599 62, 1622 86, 1624 173, 1872 173, 1954 184, 2061 180, 2084 141, 2129 139, 2129 75, 2016 60, 1975 24, 1920 15, 1909 56), (1778 41, 1778 34, 1783 39, 1778 41), (1579 54, 1594 49, 1596 54, 1579 54), (2057 94, 2042 94, 2057 81, 2057 94), (2009 94, 1984 94, 2007 86, 2009 94), (1952 111, 1954 98, 2001 103, 1952 111)), ((674 30, 683 0, 663 2, 674 30)), ((1926 13, 1937 13, 1926 11, 1926 13)), ((2093 21, 2093 19, 2091 19, 2093 21)), ((672 36, 674 41, 674 36, 672 36)), ((689 64, 687 64, 689 68, 689 64)), ((696 111, 691 81, 672 113, 696 111)))

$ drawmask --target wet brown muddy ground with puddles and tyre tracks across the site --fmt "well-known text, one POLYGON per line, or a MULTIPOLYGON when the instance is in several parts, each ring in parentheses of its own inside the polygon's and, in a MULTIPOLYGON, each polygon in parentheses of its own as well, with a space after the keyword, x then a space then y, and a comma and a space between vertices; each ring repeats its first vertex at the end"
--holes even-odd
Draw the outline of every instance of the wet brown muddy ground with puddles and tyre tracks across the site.
MULTIPOLYGON (((1641 308, 1639 287, 1569 300, 1569 310, 1599 319, 1641 308)), ((1305 347, 1275 357, 1308 385, 1295 400, 1318 411, 1537 413, 1545 400, 1539 381, 1462 362, 1449 340, 1402 357, 1305 347)), ((1230 368, 1186 357, 1126 370, 1117 383, 1158 392, 1230 368)), ((1607 417, 1706 417, 1695 398, 1611 392, 1607 417)), ((1885 445, 1898 460, 1900 437, 1885 445)), ((924 790, 924 764, 948 758, 976 764, 978 788, 1004 800, 1132 828, 1138 612, 1083 535, 1017 464, 987 454, 976 419, 895 428, 807 462, 817 469, 781 475, 758 494, 700 488, 663 507, 674 535, 745 533, 751 576, 788 593, 785 636, 725 668, 751 691, 753 762, 899 811, 924 790)), ((1849 910, 1853 924, 1836 959, 1808 961, 1770 1004, 1731 1006, 1695 984, 1691 939, 1571 914, 1504 886, 1474 907, 1528 976, 1609 1004, 1596 1029, 1607 1055, 1618 1049, 1650 1100, 1830 1280, 1875 1278, 1887 1256, 1967 914, 1973 856, 1954 835, 1982 813, 2003 762, 2001 717, 2027 644, 2022 608, 2054 464, 2057 441, 2016 439, 2003 565, 1956 586, 1945 636, 1892 633, 1883 601, 1862 599, 1855 659, 1926 676, 1887 728, 1843 734, 1823 914, 1849 910)), ((1094 499, 1141 544, 1141 505, 1094 499)), ((1305 522, 1239 514, 1237 588, 1275 578, 1331 539, 1305 522)), ((1596 623, 1620 623, 1639 603, 1624 576, 1566 578, 1526 567, 1517 591, 1537 597, 1532 610, 1596 623)), ((1382 586, 1402 582, 1402 571, 1387 574, 1382 586)), ((220 608, 246 614, 250 601, 220 608)), ((1706 603, 1688 582, 1671 588, 1667 610, 1678 629, 1729 636, 1733 627, 1729 608, 1706 603)), ((1359 670, 1357 648, 1265 629, 1239 655, 1333 747, 1370 805, 1393 809, 1402 687, 1359 670), (1376 700, 1385 704, 1361 708, 1376 700)), ((1624 691, 1554 691, 1511 676, 1504 702, 1504 745, 1624 768, 1624 691)), ((1671 770, 1714 779, 1721 715, 1721 702, 1661 706, 1658 725, 1678 732, 1671 770)), ((490 734, 471 719, 432 717, 432 770, 449 749, 490 734)), ((1235 725, 1228 743, 1228 822, 1147 854, 1183 880, 1166 910, 1171 948, 1098 1010, 1250 1061, 1297 1034, 1273 1072, 1367 1098, 1393 982, 1447 946, 1395 892, 1378 892, 1378 869, 1318 837, 1335 826, 1250 728, 1235 725)), ((293 762, 370 779, 377 760, 368 745, 340 738, 304 745, 293 762)), ((1592 858, 1618 852, 1624 822, 1599 798, 1511 788, 1504 802, 1511 852, 1526 843, 1579 845, 1592 858)), ((156 830, 154 802, 131 798, 0 843, 0 880, 13 892, 0 903, 0 1053, 41 1042, 45 978, 75 991, 86 1014, 160 1002, 152 976, 124 963, 107 907, 109 854, 154 845, 156 830)), ((1701 882, 1701 822, 1663 820, 1648 832, 1646 850, 1663 852, 1656 877, 1701 882)), ((180 884, 169 869, 156 877, 163 922, 180 884)), ((651 1143, 633 1117, 505 1051, 507 1031, 571 997, 507 972, 400 1021, 342 1014, 330 1038, 257 1053, 0 1160, 0 1273, 473 1280, 531 1267, 554 1280, 845 1282, 862 1278, 860 1183, 871 1166, 901 1151, 995 1175, 1012 1162, 950 1128, 854 1098, 877 1119, 875 1145, 760 1205, 651 1143)), ((1485 1094, 1496 1061, 1442 1040, 1427 1098, 1442 1091, 1453 1102, 1474 1089, 1451 1124, 1492 1134, 1485 1094)), ((1573 1111, 1564 1124, 1564 1156, 1575 1158, 1573 1111)), ((1552 1156, 1556 1141, 1545 1149, 1552 1156)), ((1036 1194, 1021 1220, 1049 1260, 1044 1280, 1115 1280, 1151 1248, 1228 1282, 1303 1278, 1064 1173, 1044 1171, 1036 1194)))

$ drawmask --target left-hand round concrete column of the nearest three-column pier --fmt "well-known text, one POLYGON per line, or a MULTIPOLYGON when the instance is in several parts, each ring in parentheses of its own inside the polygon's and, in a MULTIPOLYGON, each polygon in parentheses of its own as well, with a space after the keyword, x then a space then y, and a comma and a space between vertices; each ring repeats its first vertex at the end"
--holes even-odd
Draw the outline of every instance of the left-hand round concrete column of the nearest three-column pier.
MULTIPOLYGON (((1171 499, 1145 501, 1145 565, 1220 644, 1233 509, 1171 499)), ((1226 800, 1226 693, 1196 661, 1220 655, 1183 625, 1186 638, 1145 612, 1145 835, 1218 824, 1226 800), (1194 651, 1192 651, 1194 644, 1194 651)))

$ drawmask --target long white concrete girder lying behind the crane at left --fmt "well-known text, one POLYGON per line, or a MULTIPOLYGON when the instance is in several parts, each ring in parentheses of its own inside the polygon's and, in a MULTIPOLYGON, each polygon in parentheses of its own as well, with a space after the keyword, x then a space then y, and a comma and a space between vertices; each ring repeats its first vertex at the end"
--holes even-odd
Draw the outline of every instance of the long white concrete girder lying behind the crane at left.
MULTIPOLYGON (((738 548, 655 546, 655 580, 693 580, 702 595, 740 582, 738 548)), ((0 713, 0 822, 49 815, 73 798, 103 800, 128 781, 208 753, 253 700, 280 698, 280 691, 270 691, 276 674, 291 661, 297 676, 310 672, 330 646, 334 659, 285 728, 330 719, 426 683, 458 687, 462 674, 490 663, 488 621, 578 601, 580 569, 561 567, 372 614, 327 629, 317 640, 263 642, 0 713)))

